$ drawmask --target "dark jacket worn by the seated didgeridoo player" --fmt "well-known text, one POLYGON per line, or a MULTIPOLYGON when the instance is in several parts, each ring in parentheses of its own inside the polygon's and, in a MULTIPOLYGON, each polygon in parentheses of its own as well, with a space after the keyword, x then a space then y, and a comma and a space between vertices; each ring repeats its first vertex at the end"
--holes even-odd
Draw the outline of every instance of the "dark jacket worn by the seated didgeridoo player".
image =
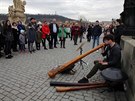
POLYGON ((102 53, 106 56, 106 62, 108 62, 109 67, 120 68, 121 64, 121 49, 120 46, 115 43, 113 47, 107 46, 105 52, 102 53))

